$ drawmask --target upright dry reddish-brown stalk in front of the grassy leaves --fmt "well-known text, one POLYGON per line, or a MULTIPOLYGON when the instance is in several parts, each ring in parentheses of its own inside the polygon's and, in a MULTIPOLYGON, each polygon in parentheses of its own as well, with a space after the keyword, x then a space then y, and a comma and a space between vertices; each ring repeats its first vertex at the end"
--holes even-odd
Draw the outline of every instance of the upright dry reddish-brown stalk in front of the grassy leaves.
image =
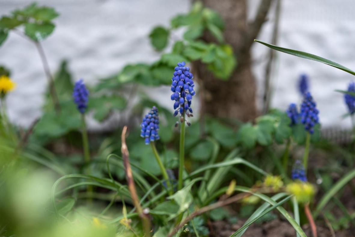
POLYGON ((122 142, 121 153, 122 153, 122 158, 123 158, 123 165, 125 167, 125 172, 126 172, 127 185, 128 185, 128 189, 131 194, 133 204, 136 207, 138 216, 142 220, 143 229, 144 229, 144 232, 146 233, 145 236, 149 237, 149 236, 151 236, 150 235, 151 222, 150 222, 148 216, 146 214, 144 214, 142 206, 141 206, 139 199, 138 199, 136 186, 135 186, 133 175, 132 175, 132 168, 131 168, 131 164, 130 164, 129 152, 128 152, 128 148, 126 145, 126 133, 127 133, 127 126, 124 126, 124 128, 122 130, 122 135, 121 135, 121 142, 122 142))

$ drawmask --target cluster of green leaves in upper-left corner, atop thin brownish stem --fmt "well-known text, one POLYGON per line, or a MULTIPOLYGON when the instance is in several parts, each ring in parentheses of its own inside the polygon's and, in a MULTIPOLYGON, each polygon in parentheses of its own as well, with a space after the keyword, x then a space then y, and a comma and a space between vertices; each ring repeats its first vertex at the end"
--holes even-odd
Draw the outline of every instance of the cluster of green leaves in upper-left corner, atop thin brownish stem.
POLYGON ((17 9, 10 16, 0 19, 0 45, 5 41, 9 31, 24 26, 24 33, 33 41, 42 41, 55 28, 54 20, 59 14, 51 7, 32 3, 23 9, 17 9))

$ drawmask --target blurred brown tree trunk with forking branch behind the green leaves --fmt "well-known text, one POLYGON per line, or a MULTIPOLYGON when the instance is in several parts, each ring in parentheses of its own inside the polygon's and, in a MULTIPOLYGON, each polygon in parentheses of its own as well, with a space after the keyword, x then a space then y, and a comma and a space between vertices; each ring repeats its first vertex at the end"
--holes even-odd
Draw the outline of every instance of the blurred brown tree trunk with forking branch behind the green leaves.
MULTIPOLYGON (((238 65, 228 81, 215 78, 200 62, 194 64, 201 86, 201 114, 242 121, 254 119, 256 84, 251 71, 250 48, 265 21, 272 0, 262 0, 255 20, 247 22, 247 0, 202 0, 204 6, 217 11, 225 21, 225 42, 233 47, 238 65)), ((203 39, 215 42, 208 33, 203 39)))

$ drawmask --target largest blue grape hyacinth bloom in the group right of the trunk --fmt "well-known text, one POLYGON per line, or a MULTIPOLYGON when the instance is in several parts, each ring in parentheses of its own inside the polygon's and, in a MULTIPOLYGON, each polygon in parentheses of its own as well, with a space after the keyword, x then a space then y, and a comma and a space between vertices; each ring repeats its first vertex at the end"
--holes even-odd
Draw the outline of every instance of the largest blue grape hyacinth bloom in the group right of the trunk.
POLYGON ((307 92, 301 104, 301 122, 310 134, 313 134, 313 127, 319 122, 318 113, 316 102, 313 101, 311 93, 307 92))

